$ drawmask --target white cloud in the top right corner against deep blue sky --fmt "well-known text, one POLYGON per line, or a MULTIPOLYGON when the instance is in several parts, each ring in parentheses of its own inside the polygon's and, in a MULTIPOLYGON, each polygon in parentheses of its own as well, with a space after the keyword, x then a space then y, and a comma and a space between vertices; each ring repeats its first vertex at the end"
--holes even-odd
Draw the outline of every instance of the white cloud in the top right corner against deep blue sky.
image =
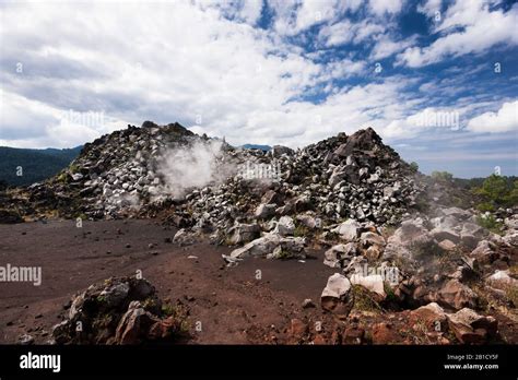
POLYGON ((517 24, 516 4, 504 13, 502 10, 491 11, 488 4, 481 0, 460 0, 447 10, 443 23, 436 28, 436 32, 446 35, 427 47, 409 47, 398 55, 398 63, 419 68, 447 57, 482 52, 497 44, 516 46, 517 24))

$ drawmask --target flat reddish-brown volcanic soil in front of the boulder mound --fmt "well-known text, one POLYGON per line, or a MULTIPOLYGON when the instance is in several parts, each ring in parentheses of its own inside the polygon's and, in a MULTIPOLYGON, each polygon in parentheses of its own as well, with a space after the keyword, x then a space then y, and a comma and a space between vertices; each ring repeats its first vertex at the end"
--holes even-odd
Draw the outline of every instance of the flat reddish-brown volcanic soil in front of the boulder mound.
POLYGON ((231 248, 166 242, 174 234, 155 221, 138 219, 84 222, 82 228, 74 221, 0 225, 0 265, 43 271, 40 286, 0 284, 0 343, 15 343, 24 333, 45 343, 73 294, 138 270, 161 298, 188 305, 195 343, 249 343, 255 330, 262 336, 272 324, 280 331, 293 318, 321 316, 318 307, 301 306, 306 298, 318 305, 334 273, 322 265, 321 252, 304 263, 248 259, 226 268, 221 254, 231 248), (195 329, 198 321, 201 332, 195 329))

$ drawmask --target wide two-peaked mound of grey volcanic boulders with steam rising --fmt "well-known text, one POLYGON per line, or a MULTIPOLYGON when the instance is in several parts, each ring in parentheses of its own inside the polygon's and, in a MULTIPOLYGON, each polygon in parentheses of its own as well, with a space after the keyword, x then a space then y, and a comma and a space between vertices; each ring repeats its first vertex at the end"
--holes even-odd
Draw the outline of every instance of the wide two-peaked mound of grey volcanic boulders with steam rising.
POLYGON ((67 169, 19 197, 19 212, 104 218, 166 210, 204 230, 303 212, 384 224, 415 205, 422 186, 413 177, 373 129, 262 152, 146 121, 86 144, 67 169))

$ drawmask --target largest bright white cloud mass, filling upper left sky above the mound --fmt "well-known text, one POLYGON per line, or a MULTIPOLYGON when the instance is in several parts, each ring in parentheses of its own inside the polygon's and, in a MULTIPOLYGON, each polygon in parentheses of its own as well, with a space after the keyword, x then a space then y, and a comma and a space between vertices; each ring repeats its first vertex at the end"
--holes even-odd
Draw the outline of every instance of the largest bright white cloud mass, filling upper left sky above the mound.
MULTIPOLYGON (((23 111, 13 111, 31 115, 26 124, 34 139, 22 142, 3 131, 0 139, 10 145, 61 147, 111 130, 113 124, 64 128, 57 115, 73 109, 105 112, 119 128, 146 119, 178 120, 190 127, 199 115, 198 131, 225 135, 231 143, 302 146, 370 121, 381 126, 376 119, 382 117, 382 108, 390 109, 391 99, 399 97, 391 82, 335 93, 330 81, 363 73, 365 62, 314 63, 276 35, 233 22, 222 12, 187 2, 153 8, 94 3, 80 10, 64 3, 3 8, 7 22, 0 33, 9 41, 4 51, 26 67, 22 75, 9 70, 0 74, 5 92, 46 108, 24 106, 23 111), (32 22, 16 21, 22 19, 32 22), (47 32, 42 34, 43 29, 47 32), (25 41, 36 46, 28 50, 25 41), (55 68, 48 68, 48 57, 57 57, 55 68), (61 78, 62 68, 78 61, 89 75, 61 78), (327 100, 318 105, 293 100, 318 85, 331 93, 327 100), (321 117, 321 128, 308 128, 315 115, 321 117)), ((2 116, 2 124, 7 121, 2 116)))

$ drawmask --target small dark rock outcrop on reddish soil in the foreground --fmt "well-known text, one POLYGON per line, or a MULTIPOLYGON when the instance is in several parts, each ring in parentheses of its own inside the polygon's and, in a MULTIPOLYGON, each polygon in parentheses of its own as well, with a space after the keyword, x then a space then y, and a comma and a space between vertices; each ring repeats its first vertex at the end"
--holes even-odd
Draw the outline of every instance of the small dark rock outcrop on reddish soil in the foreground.
POLYGON ((136 277, 109 278, 72 298, 57 344, 138 344, 185 340, 185 311, 164 305, 155 288, 136 277))

